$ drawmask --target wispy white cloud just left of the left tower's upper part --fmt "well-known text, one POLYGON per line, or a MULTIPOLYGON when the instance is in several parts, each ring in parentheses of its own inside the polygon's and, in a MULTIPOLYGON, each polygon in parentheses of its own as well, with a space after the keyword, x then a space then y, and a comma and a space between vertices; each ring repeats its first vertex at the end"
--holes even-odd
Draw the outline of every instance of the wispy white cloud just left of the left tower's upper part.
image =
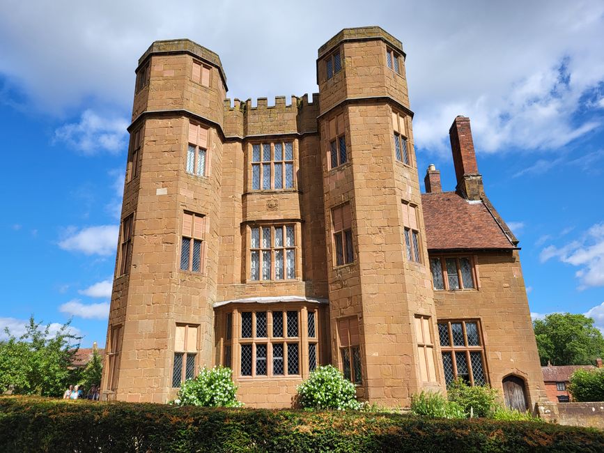
POLYGON ((102 118, 88 109, 78 123, 55 130, 54 142, 63 141, 86 155, 118 153, 126 148, 127 125, 124 118, 102 118))

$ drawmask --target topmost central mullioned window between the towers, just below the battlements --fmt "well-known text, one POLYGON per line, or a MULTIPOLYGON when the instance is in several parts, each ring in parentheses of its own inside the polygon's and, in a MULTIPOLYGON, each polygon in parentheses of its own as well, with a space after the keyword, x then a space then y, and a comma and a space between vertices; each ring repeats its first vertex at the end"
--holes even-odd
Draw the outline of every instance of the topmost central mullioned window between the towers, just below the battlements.
POLYGON ((295 187, 293 141, 251 145, 251 190, 295 187))

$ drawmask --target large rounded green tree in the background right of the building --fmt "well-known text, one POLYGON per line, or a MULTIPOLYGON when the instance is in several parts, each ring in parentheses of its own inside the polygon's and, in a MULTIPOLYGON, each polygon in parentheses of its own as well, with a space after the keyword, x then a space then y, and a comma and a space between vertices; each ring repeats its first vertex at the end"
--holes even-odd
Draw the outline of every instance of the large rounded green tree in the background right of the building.
POLYGON ((604 353, 604 338, 594 319, 582 314, 552 313, 533 321, 541 364, 581 365, 604 353))

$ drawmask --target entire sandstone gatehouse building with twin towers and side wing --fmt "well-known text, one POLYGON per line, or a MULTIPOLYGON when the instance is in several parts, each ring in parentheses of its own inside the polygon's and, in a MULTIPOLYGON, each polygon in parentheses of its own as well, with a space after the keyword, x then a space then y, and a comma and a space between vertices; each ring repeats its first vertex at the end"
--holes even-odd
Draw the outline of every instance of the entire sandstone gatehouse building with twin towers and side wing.
POLYGON ((224 364, 241 401, 291 406, 328 363, 385 406, 454 376, 500 388, 516 376, 530 407, 545 396, 518 241, 484 195, 469 120, 451 127, 458 192, 441 192, 431 168, 422 195, 404 61, 379 27, 344 29, 318 51, 313 102, 252 107, 225 99, 217 54, 189 40, 149 47, 104 398, 165 402, 199 367, 224 364), (439 206, 451 203, 472 211, 455 228, 478 226, 476 243, 447 240, 455 215, 439 206))

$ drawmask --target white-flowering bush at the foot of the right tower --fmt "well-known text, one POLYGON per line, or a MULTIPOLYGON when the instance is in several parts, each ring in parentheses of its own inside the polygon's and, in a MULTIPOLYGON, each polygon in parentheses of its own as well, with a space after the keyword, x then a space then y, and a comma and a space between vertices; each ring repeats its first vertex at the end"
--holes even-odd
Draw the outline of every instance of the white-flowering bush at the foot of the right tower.
POLYGON ((297 386, 300 406, 313 409, 355 409, 362 408, 356 399, 355 385, 332 367, 318 367, 309 378, 297 386))

